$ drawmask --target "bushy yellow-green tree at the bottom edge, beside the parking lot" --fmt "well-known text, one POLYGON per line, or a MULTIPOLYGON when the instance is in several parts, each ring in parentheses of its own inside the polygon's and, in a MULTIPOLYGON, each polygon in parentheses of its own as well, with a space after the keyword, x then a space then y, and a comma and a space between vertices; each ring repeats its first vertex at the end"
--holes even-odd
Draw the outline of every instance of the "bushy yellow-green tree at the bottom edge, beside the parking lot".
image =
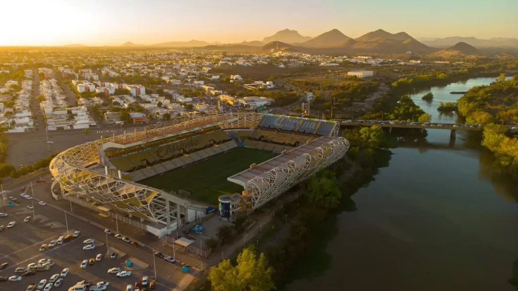
POLYGON ((273 272, 266 256, 261 253, 257 258, 252 245, 237 256, 236 266, 226 259, 211 267, 208 279, 214 291, 268 291, 275 288, 271 280, 273 272))

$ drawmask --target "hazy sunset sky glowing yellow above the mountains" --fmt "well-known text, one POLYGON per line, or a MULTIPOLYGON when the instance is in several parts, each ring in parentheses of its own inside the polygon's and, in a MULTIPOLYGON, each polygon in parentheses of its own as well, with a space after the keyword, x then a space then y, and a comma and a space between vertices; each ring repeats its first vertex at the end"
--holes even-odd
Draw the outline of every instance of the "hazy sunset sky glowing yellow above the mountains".
POLYGON ((0 46, 262 40, 284 28, 358 37, 518 37, 518 0, 0 0, 0 46))

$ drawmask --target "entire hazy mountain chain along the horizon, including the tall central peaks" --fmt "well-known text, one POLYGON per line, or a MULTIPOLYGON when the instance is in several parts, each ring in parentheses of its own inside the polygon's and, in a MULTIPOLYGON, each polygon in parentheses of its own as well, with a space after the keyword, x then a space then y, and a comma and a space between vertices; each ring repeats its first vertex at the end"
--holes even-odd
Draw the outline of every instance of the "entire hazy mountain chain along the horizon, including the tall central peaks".
MULTIPOLYGON (((330 30, 316 37, 300 35, 295 30, 285 29, 267 36, 263 41, 242 41, 240 43, 207 42, 203 40, 169 41, 156 43, 147 47, 171 48, 205 48, 207 50, 227 51, 265 51, 285 48, 305 53, 434 53, 438 48, 448 49, 448 53, 456 51, 461 54, 477 54, 478 50, 466 47, 518 47, 518 38, 477 39, 474 37, 447 38, 413 38, 405 32, 389 33, 384 30, 368 32, 355 39, 337 29, 330 30), (456 45, 459 45, 455 48, 456 45), (453 48, 452 48, 453 47, 453 48)), ((65 47, 85 47, 83 45, 67 45, 65 47)), ((121 47, 143 47, 133 42, 126 42, 121 47)))

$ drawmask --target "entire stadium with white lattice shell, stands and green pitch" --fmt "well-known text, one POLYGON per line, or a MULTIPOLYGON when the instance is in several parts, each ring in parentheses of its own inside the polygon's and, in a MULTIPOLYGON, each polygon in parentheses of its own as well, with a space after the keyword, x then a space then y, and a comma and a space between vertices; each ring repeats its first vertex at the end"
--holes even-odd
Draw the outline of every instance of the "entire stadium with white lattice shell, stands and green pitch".
POLYGON ((52 187, 57 199, 162 237, 218 208, 231 219, 264 206, 346 154, 338 131, 333 121, 262 113, 177 119, 58 154, 52 187))

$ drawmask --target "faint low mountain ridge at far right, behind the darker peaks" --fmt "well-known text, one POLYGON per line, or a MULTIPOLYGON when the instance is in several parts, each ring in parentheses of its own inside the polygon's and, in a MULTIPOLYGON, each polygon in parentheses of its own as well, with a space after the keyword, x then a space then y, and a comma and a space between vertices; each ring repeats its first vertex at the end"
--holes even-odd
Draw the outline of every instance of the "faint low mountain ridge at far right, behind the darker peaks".
POLYGON ((518 47, 518 38, 493 37, 490 39, 479 39, 475 37, 445 37, 445 38, 422 38, 427 46, 431 47, 451 47, 458 42, 465 42, 473 47, 518 47))

